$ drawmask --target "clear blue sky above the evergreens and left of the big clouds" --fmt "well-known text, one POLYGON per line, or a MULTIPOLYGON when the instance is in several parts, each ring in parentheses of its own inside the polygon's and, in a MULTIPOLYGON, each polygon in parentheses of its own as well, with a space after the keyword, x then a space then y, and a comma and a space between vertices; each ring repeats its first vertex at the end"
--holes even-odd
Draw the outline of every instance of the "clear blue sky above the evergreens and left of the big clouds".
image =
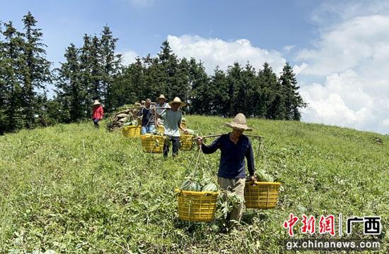
POLYGON ((309 13, 312 1, 3 1, 0 20, 31 11, 44 32, 51 61, 62 61, 64 49, 81 45, 84 33, 98 34, 108 24, 120 38, 117 49, 156 54, 168 35, 199 35, 221 40, 245 38, 253 45, 281 51, 307 46, 315 37, 309 13), (296 29, 298 28, 298 29, 296 29))

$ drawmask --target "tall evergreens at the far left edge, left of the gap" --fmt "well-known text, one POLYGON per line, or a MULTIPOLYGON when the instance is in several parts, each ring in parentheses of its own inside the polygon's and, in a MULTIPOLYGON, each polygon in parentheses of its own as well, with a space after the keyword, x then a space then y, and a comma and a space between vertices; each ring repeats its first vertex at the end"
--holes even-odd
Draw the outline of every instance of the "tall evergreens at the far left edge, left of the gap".
POLYGON ((28 12, 22 21, 23 31, 0 23, 0 133, 33 128, 52 82, 37 20, 28 12))

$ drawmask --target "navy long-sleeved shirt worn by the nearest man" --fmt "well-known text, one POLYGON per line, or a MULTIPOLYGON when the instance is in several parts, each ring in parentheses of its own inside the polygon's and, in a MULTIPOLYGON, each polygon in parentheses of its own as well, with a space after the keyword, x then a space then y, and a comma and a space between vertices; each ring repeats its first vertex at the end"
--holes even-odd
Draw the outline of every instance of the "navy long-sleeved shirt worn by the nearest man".
POLYGON ((236 144, 230 140, 228 133, 221 135, 211 145, 202 145, 204 154, 211 154, 218 149, 221 150, 218 176, 226 179, 245 178, 245 157, 250 176, 255 173, 252 146, 250 140, 245 135, 241 135, 236 144))

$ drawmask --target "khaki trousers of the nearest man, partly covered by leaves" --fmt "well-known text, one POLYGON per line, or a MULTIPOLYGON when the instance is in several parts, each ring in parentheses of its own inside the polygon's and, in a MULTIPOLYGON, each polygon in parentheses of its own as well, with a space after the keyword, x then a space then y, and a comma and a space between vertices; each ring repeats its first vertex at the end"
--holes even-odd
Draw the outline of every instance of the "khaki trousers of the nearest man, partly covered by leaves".
MULTIPOLYGON (((223 190, 231 191, 232 193, 236 193, 236 195, 240 196, 243 200, 245 198, 245 182, 246 179, 226 179, 218 176, 217 182, 219 183, 220 188, 223 190)), ((231 224, 230 220, 236 220, 240 222, 240 218, 242 217, 243 212, 243 202, 238 205, 238 207, 234 207, 230 214, 227 215, 228 223, 231 224)))

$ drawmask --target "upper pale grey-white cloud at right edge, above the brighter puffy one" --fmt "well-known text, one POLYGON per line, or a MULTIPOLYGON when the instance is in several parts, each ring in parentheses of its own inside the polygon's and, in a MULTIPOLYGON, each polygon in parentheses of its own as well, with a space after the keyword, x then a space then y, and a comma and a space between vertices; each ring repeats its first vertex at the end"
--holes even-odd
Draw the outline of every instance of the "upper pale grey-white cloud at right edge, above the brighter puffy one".
POLYGON ((389 16, 352 18, 323 33, 317 49, 303 49, 297 59, 310 63, 303 74, 329 75, 350 68, 378 66, 389 59, 389 16))

